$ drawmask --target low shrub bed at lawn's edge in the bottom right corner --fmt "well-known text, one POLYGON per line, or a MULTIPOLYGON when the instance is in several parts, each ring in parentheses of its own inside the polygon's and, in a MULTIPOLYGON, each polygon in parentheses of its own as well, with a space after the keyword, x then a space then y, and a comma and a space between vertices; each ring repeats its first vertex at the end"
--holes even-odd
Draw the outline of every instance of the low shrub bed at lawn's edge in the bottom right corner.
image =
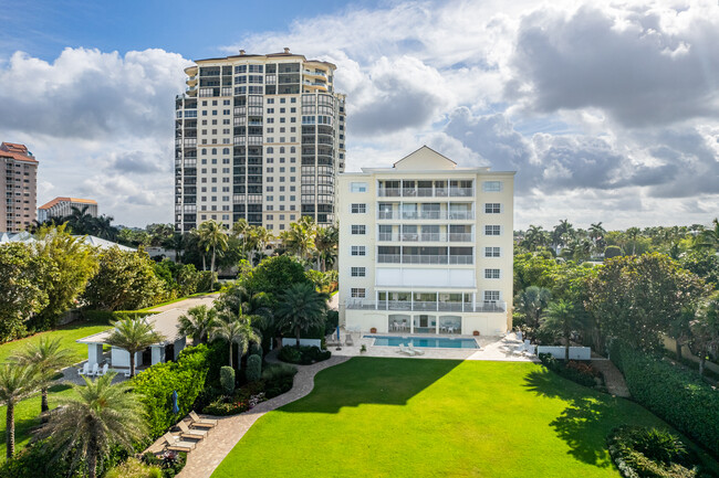
POLYGON ((669 432, 619 426, 607 436, 609 455, 625 478, 709 477, 697 454, 669 432))

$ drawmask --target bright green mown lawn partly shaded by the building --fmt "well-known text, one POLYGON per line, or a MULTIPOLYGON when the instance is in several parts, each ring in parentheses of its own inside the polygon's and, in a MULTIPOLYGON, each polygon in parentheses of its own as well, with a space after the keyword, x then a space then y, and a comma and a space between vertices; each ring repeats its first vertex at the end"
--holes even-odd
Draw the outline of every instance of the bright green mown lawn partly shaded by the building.
POLYGON ((666 426, 533 363, 355 358, 261 417, 212 477, 619 477, 604 440, 625 423, 666 426))

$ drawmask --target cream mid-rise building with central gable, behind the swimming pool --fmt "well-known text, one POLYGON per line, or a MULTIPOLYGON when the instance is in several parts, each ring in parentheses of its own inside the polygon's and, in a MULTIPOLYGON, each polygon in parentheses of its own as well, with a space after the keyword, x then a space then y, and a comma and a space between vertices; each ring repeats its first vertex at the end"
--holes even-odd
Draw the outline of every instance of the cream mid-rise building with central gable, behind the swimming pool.
POLYGON ((498 336, 511 329, 514 172, 423 147, 341 174, 340 316, 350 330, 498 336))

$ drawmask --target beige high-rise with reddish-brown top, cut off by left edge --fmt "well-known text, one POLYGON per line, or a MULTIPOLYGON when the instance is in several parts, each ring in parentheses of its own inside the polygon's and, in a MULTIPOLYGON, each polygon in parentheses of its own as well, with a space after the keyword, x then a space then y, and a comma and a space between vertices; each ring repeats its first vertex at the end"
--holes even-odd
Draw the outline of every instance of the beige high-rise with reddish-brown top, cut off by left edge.
POLYGON ((19 232, 28 229, 35 219, 38 208, 38 160, 24 145, 0 145, 0 232, 19 232))

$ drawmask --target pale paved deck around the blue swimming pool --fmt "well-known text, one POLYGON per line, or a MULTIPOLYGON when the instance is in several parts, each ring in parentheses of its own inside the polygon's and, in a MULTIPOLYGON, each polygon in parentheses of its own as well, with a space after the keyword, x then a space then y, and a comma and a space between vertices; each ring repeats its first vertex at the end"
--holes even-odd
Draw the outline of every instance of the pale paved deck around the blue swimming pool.
MULTIPOLYGON (((385 357, 385 358, 407 358, 407 359, 446 359, 446 360, 490 360, 499 362, 539 362, 536 355, 528 355, 525 353, 517 352, 522 342, 517 339, 514 333, 509 333, 504 337, 472 337, 472 336, 414 336, 417 339, 437 339, 437 338, 454 338, 454 339, 475 339, 479 344, 479 349, 435 349, 429 347, 415 347, 415 349, 425 352, 423 355, 409 357, 399 352, 398 347, 388 346, 373 346, 374 338, 365 339, 365 336, 374 337, 405 337, 402 333, 359 333, 359 332, 345 332, 342 333, 342 350, 336 350, 336 347, 327 344, 327 350, 332 351, 333 355, 340 357, 385 357), (345 346, 346 334, 352 334, 353 346, 345 346), (361 352, 362 346, 365 346, 367 351, 361 352)), ((406 336, 411 340, 413 336, 406 336)))

